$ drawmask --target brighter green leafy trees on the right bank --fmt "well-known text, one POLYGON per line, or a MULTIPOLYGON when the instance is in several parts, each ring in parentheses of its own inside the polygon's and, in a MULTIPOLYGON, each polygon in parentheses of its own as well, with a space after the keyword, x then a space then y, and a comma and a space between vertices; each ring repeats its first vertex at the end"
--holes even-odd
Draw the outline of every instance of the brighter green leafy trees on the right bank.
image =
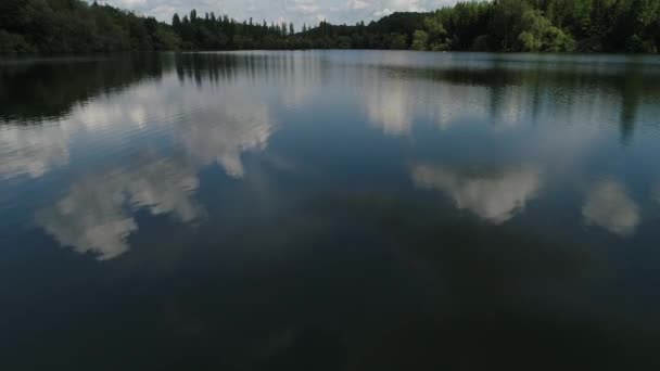
POLYGON ((660 0, 459 2, 430 14, 411 48, 656 53, 660 0))

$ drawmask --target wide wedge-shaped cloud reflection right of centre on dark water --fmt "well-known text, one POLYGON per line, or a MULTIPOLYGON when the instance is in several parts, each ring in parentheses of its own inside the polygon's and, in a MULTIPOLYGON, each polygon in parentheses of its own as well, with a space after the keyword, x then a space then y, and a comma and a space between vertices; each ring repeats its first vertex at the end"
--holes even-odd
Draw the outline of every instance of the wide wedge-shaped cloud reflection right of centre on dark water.
POLYGON ((458 209, 468 209, 497 225, 524 209, 541 188, 541 174, 531 168, 461 175, 420 165, 412 169, 412 180, 418 187, 447 193, 458 209))

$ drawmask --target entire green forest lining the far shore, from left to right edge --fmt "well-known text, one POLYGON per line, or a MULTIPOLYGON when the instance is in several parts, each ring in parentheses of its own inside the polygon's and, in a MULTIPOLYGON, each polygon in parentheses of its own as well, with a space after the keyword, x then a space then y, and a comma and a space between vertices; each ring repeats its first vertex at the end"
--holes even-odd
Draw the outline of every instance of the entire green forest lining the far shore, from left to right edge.
POLYGON ((0 1, 3 53, 251 49, 657 53, 659 47, 660 0, 462 1, 429 13, 394 13, 368 24, 320 22, 301 28, 195 10, 174 14, 167 24, 96 1, 0 1))

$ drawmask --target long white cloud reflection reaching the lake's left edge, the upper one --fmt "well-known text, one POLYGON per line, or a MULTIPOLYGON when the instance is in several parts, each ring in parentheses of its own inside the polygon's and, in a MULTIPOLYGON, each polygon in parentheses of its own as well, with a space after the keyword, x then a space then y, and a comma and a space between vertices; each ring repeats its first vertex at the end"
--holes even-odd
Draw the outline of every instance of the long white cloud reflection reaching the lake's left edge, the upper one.
POLYGON ((66 166, 71 146, 86 135, 124 140, 123 133, 135 132, 136 128, 162 130, 170 125, 174 140, 195 166, 216 163, 229 176, 241 178, 241 154, 265 149, 274 124, 268 105, 257 101, 252 90, 245 90, 248 81, 237 78, 233 82, 231 88, 227 86, 231 94, 215 97, 196 89, 183 93, 177 88, 176 77, 170 76, 162 85, 145 81, 122 94, 101 95, 61 119, 29 127, 8 125, 0 130, 0 178, 37 178, 66 166), (185 125, 172 123, 180 112, 188 113, 180 117, 185 125))

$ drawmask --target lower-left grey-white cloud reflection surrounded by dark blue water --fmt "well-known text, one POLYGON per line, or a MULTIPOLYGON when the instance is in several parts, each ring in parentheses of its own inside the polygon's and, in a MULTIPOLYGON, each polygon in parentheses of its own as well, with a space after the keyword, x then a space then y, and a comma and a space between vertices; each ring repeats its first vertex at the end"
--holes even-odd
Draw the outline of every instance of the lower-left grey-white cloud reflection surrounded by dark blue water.
POLYGON ((129 171, 111 170, 75 182, 64 197, 37 214, 36 220, 60 244, 113 259, 129 250, 128 236, 138 231, 132 217, 144 208, 192 221, 201 206, 191 200, 199 180, 182 164, 158 159, 129 171))

